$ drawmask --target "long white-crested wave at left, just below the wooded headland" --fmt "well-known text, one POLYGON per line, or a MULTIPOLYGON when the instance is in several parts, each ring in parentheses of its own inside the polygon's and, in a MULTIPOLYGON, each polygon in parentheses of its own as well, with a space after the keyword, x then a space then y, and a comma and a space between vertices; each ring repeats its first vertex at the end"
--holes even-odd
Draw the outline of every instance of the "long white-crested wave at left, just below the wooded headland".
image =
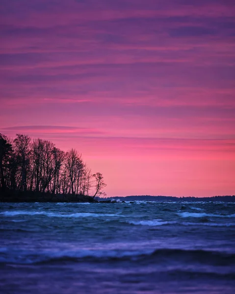
POLYGON ((60 213, 53 213, 53 212, 46 212, 46 211, 4 211, 4 212, 1 212, 0 215, 3 215, 5 217, 15 217, 20 215, 27 215, 27 216, 43 215, 47 217, 57 217, 57 218, 87 218, 87 217, 101 218, 101 217, 120 216, 119 214, 97 214, 97 213, 90 213, 90 212, 60 214, 60 213))

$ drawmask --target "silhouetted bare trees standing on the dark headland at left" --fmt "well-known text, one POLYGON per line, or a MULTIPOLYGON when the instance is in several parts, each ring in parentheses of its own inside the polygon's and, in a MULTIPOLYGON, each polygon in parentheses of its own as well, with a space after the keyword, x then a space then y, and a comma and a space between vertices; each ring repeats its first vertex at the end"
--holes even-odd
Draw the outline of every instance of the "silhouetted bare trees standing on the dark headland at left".
POLYGON ((0 134, 0 191, 101 196, 102 173, 93 174, 76 149, 65 152, 51 142, 0 134))

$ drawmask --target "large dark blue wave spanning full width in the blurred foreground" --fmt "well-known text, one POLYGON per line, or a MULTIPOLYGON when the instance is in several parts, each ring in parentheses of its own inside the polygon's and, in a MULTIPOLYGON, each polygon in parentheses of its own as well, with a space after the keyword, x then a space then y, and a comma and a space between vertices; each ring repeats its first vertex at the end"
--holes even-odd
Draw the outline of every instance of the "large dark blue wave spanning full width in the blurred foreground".
POLYGON ((235 266, 235 254, 221 251, 159 248, 156 250, 79 250, 58 252, 20 252, 0 250, 1 264, 50 264, 60 262, 144 261, 160 264, 178 261, 180 264, 235 266))

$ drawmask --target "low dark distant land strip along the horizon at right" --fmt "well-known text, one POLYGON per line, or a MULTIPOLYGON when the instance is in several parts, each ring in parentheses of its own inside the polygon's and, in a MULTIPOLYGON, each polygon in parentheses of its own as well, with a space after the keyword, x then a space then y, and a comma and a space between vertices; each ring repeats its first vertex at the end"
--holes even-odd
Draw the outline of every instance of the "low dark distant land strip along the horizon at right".
POLYGON ((107 197, 106 199, 120 199, 121 201, 224 201, 224 202, 235 202, 235 195, 233 196, 211 196, 211 197, 176 197, 176 196, 125 196, 125 197, 107 197))

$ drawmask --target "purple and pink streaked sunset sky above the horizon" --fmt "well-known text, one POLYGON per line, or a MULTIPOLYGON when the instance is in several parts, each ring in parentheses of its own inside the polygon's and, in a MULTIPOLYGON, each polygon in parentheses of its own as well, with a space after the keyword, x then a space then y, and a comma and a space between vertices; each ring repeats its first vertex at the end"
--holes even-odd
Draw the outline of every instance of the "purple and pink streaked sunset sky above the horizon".
POLYGON ((107 196, 235 195, 234 0, 1 0, 0 133, 107 196))

